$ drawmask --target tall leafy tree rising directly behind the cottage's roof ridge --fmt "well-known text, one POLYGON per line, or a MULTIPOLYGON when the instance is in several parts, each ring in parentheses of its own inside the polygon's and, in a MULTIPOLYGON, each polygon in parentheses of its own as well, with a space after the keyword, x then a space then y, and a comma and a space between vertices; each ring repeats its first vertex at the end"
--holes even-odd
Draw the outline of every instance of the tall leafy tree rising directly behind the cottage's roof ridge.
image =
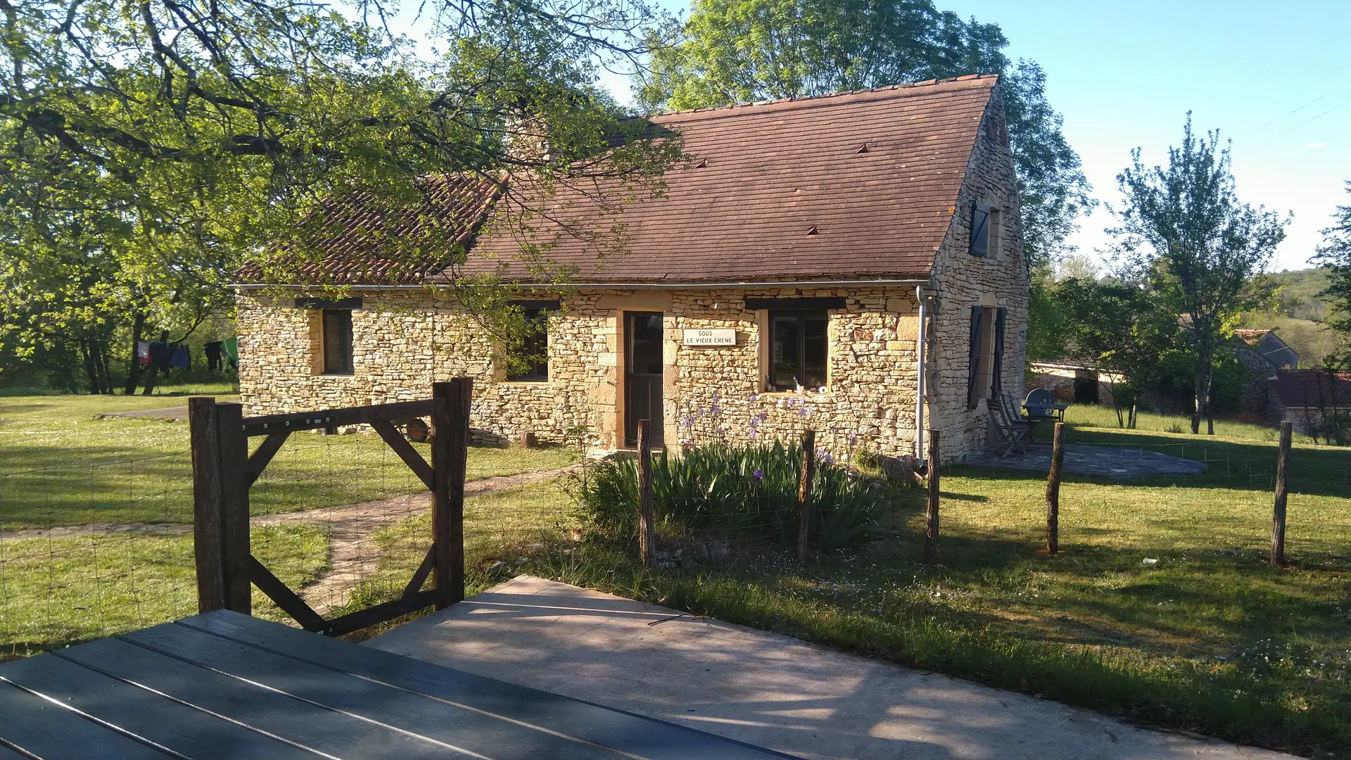
POLYGON ((1046 73, 1013 65, 998 24, 931 0, 694 0, 654 32, 638 100, 648 110, 804 97, 962 74, 1002 74, 1001 92, 1035 269, 1056 258, 1093 206, 1079 157, 1046 100, 1046 73))

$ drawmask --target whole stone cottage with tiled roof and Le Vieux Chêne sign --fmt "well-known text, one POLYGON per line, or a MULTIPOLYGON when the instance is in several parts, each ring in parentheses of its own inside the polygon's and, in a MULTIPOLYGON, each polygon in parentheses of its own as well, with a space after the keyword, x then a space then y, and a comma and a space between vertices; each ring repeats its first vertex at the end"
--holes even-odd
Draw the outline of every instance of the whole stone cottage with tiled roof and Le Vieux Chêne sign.
MULTIPOLYGON (((235 287, 247 414, 424 398, 432 379, 467 375, 473 427, 507 440, 626 448, 651 419, 667 445, 811 427, 836 454, 905 454, 932 427, 943 458, 959 458, 988 434, 988 399, 1023 394, 1028 269, 996 82, 653 116, 694 161, 667 173, 663 197, 621 212, 623 253, 600 260, 566 238, 549 252, 576 276, 521 303, 547 325, 547 361, 523 375, 508 376, 463 310, 428 289, 444 275, 353 265, 342 234, 311 273, 350 285, 343 300, 313 298, 307 281, 278 298, 246 268, 235 287)), ((466 269, 500 266, 517 245, 480 229, 494 203, 480 180, 427 191, 428 208, 461 224, 466 269)), ((332 214, 350 216, 336 227, 351 234, 400 233, 396 219, 332 214)))

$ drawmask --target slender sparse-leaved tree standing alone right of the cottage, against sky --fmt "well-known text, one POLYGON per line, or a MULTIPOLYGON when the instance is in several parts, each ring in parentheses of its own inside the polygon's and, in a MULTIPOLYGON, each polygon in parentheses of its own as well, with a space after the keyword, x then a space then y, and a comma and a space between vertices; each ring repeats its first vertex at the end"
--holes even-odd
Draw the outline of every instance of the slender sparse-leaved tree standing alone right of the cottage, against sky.
POLYGON ((1215 434, 1212 385, 1217 354, 1244 311, 1266 304, 1271 288, 1260 275, 1289 219, 1243 203, 1235 189, 1228 147, 1220 133, 1197 135, 1188 114, 1182 145, 1169 147, 1166 166, 1144 165, 1139 147, 1117 174, 1125 196, 1115 210, 1120 253, 1142 281, 1178 315, 1196 357, 1192 433, 1215 434))

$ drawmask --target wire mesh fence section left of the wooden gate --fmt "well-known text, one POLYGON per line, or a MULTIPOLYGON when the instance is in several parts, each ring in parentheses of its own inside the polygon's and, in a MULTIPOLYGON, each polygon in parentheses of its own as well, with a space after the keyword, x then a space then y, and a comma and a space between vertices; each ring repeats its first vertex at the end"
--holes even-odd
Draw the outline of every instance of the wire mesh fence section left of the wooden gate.
POLYGON ((186 450, 0 473, 0 657, 192 614, 186 450))

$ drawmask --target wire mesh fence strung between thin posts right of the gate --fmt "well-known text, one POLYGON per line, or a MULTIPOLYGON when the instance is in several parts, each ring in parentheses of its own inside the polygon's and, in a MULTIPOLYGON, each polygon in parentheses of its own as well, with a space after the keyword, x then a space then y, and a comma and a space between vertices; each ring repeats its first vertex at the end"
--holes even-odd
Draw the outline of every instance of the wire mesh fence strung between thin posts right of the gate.
MULTIPOLYGON (((1278 458, 1273 442, 1177 441, 1101 430, 1069 438, 1065 540, 1093 544, 1111 537, 1142 552, 1188 545, 1223 553, 1262 552, 1271 541, 1278 458)), ((982 453, 943 464, 939 502, 967 522, 996 518, 992 525, 1004 537, 1035 548, 1044 541, 1039 534, 1046 530, 1050 454, 1048 444, 1034 444, 1009 457, 982 453), (993 514, 996 508, 1002 513, 993 514)), ((719 441, 653 457, 654 569, 797 553, 802 464, 796 442, 719 441)), ((808 548, 850 550, 890 542, 907 546, 920 561, 927 508, 920 483, 889 481, 875 456, 816 452, 816 460, 805 511, 808 548)), ((1337 506, 1351 495, 1351 452, 1302 445, 1290 462, 1297 556, 1344 556, 1351 525, 1337 506)), ((638 471, 623 458, 593 465, 590 485, 578 494, 586 538, 639 553, 638 471)))

